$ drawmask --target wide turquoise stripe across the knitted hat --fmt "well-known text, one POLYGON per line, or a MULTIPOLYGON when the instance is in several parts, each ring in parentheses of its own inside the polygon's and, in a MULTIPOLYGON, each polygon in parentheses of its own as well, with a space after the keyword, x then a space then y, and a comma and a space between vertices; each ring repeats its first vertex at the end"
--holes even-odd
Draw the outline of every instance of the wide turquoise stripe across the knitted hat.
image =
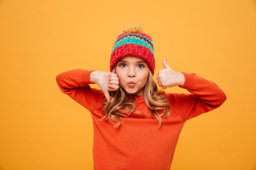
POLYGON ((140 38, 136 38, 136 37, 123 38, 119 42, 115 43, 115 45, 113 46, 113 49, 111 51, 111 55, 117 47, 122 46, 124 44, 136 44, 136 45, 145 46, 146 48, 148 48, 152 52, 152 54, 154 56, 154 51, 153 51, 152 47, 147 42, 145 42, 144 40, 141 40, 140 38))

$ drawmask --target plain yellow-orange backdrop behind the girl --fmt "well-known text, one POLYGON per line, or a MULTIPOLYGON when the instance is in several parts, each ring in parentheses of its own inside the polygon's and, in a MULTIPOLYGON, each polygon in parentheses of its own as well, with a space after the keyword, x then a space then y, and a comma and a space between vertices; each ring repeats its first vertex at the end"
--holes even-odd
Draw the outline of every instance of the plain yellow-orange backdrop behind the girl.
POLYGON ((153 39, 155 76, 168 57, 175 71, 227 95, 186 122, 171 170, 256 170, 255 0, 1 0, 0 170, 93 169, 90 112, 61 93, 55 77, 109 71, 127 24, 153 39))

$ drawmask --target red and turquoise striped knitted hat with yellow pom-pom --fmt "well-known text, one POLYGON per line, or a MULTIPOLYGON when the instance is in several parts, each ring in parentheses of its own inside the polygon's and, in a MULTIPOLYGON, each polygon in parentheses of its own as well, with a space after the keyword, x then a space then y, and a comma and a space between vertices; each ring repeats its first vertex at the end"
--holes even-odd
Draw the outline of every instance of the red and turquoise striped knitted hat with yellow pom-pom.
POLYGON ((117 37, 111 51, 110 71, 113 70, 118 60, 125 56, 141 57, 148 64, 154 75, 155 56, 152 39, 144 33, 144 29, 138 25, 127 25, 123 33, 117 37))

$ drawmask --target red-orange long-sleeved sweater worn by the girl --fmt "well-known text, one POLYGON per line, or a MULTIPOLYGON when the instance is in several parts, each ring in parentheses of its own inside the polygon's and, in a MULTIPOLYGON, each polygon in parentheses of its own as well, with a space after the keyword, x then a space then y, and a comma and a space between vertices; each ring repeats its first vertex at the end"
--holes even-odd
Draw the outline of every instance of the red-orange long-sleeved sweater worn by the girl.
MULTIPOLYGON (((226 100, 225 93, 213 82, 195 73, 183 73, 185 88, 192 94, 163 93, 171 104, 168 119, 162 117, 162 125, 151 118, 144 96, 138 99, 135 110, 145 116, 131 114, 121 117, 124 121, 114 128, 103 117, 103 92, 91 88, 92 71, 74 69, 56 77, 61 91, 88 109, 93 120, 93 161, 94 170, 170 170, 175 147, 186 120, 218 108, 226 100)), ((136 102, 134 100, 134 102, 136 102)))

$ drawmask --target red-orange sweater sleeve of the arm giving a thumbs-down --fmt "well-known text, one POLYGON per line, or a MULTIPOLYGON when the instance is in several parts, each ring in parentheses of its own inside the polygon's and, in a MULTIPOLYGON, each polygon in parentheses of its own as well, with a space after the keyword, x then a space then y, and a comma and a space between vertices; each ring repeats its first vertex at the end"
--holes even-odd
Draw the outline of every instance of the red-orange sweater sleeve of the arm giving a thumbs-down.
POLYGON ((92 70, 74 69, 56 76, 56 82, 61 91, 90 112, 102 106, 104 94, 101 90, 91 88, 90 74, 92 70))

